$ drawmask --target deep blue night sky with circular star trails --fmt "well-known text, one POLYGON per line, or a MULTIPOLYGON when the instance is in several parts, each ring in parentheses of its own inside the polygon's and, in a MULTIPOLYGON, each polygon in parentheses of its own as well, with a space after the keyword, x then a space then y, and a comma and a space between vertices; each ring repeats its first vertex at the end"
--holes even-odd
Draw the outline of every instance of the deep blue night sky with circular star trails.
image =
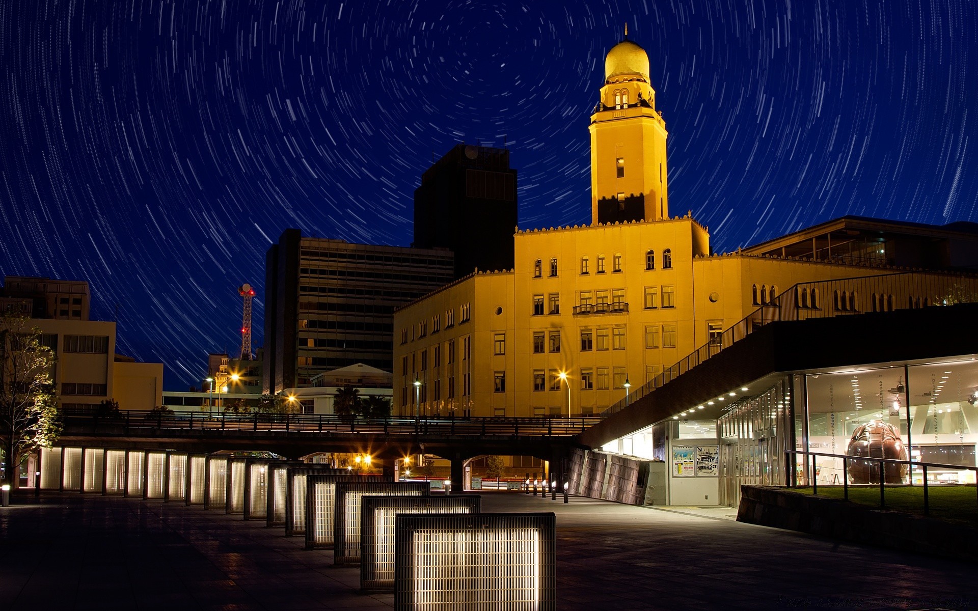
POLYGON ((505 139, 521 228, 590 222, 624 22, 671 212, 714 250, 978 221, 973 0, 0 0, 0 273, 88 281, 117 350, 186 389, 238 349, 244 282, 261 345, 284 229, 409 244, 432 152, 505 139))

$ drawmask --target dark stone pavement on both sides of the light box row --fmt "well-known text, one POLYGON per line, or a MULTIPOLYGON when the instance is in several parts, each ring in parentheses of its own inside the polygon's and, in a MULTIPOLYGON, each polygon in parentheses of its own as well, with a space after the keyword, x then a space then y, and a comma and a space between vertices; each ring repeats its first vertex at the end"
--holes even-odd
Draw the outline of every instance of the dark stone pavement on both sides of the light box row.
MULTIPOLYGON (((975 567, 729 519, 485 494, 555 511, 559 609, 978 609, 975 567)), ((717 512, 714 510, 713 512, 717 512)), ((386 609, 359 568, 200 507, 29 493, 0 508, 0 609, 386 609)))

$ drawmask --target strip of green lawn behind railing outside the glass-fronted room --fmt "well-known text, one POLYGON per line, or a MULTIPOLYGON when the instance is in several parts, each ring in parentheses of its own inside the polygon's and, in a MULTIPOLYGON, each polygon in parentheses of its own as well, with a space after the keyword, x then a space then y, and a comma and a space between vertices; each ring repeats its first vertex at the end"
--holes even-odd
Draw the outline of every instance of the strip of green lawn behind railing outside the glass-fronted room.
MULTIPOLYGON (((792 488, 812 494, 812 488, 792 488)), ((843 498, 842 486, 819 486, 819 496, 843 498)), ((930 517, 978 522, 978 491, 974 486, 928 486, 930 517)), ((923 515, 923 486, 887 486, 886 509, 923 515)), ((849 501, 879 507, 879 486, 850 486, 849 501)))

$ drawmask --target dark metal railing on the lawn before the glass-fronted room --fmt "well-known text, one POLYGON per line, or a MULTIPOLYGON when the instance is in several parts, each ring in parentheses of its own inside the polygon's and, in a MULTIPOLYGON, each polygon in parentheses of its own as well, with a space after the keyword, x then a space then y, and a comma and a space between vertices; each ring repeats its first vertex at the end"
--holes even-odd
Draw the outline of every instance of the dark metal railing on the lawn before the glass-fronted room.
MULTIPOLYGON (((886 487, 887 486, 890 486, 891 488, 893 488, 893 487, 900 487, 900 488, 905 488, 905 489, 906 488, 910 488, 911 486, 913 486, 913 469, 914 468, 920 469, 920 472, 921 472, 921 475, 922 475, 922 484, 923 484, 923 514, 924 515, 930 515, 930 494, 929 494, 930 491, 929 491, 929 487, 932 487, 932 486, 947 487, 949 485, 956 485, 956 484, 934 484, 934 483, 929 483, 928 482, 928 479, 927 479, 927 469, 928 468, 931 468, 931 469, 952 469, 952 470, 956 470, 956 471, 962 471, 962 470, 974 471, 975 472, 976 481, 978 481, 978 466, 968 466, 968 465, 962 465, 962 464, 942 464, 940 462, 917 462, 915 460, 899 460, 899 459, 896 459, 896 458, 853 457, 853 456, 843 455, 843 454, 824 454, 824 453, 821 453, 821 452, 804 452, 802 450, 787 450, 787 451, 784 452, 784 458, 785 458, 785 462, 784 463, 786 465, 786 468, 788 469, 788 473, 785 474, 787 476, 787 478, 786 478, 785 481, 788 482, 788 488, 799 488, 799 487, 808 488, 808 487, 811 487, 812 488, 812 494, 813 495, 818 494, 819 493, 819 477, 818 476, 820 475, 820 471, 821 471, 821 469, 819 467, 819 464, 818 464, 818 459, 820 457, 822 457, 822 458, 832 458, 833 460, 834 459, 841 459, 842 460, 842 477, 841 478, 838 478, 837 477, 837 474, 836 474, 836 479, 841 480, 840 481, 840 484, 841 484, 841 488, 842 488, 842 491, 843 491, 842 492, 842 498, 844 500, 849 501, 849 489, 850 488, 853 488, 853 487, 873 488, 873 487, 877 487, 878 486, 878 488, 879 488, 879 507, 881 509, 886 507, 886 487), (799 464, 798 460, 792 460, 791 459, 791 456, 792 455, 794 455, 795 457, 805 457, 805 458, 803 459, 802 463, 799 464), (811 457, 811 460, 808 459, 809 457, 811 457), (850 478, 849 467, 850 467, 851 464, 866 469, 867 475, 868 475, 868 479, 870 480, 870 482, 867 483, 867 484, 850 483, 849 482, 849 478, 850 478), (901 468, 901 465, 904 465, 904 464, 906 464, 906 465, 908 465, 910 467, 909 468, 909 473, 906 475, 907 481, 904 481, 905 475, 903 474, 903 469, 901 468), (889 468, 888 469, 887 468, 888 465, 895 465, 896 468, 895 469, 894 468, 889 468), (799 471, 799 469, 798 469, 799 466, 801 467, 801 473, 798 472, 799 471), (873 471, 873 467, 875 467, 875 469, 876 469, 875 471, 873 471), (894 472, 894 471, 896 471, 896 472, 894 472), (875 479, 878 480, 878 481, 872 482, 873 476, 875 476, 875 479), (888 479, 899 479, 900 481, 887 482, 888 479), (801 486, 799 484, 799 480, 804 480, 805 481, 805 484, 803 486, 801 486)), ((840 487, 840 484, 834 484, 834 483, 824 484, 823 483, 822 484, 822 487, 838 488, 838 487, 840 487)), ((976 493, 975 494, 975 503, 976 503, 976 508, 978 508, 978 485, 975 485, 975 493, 976 493)))

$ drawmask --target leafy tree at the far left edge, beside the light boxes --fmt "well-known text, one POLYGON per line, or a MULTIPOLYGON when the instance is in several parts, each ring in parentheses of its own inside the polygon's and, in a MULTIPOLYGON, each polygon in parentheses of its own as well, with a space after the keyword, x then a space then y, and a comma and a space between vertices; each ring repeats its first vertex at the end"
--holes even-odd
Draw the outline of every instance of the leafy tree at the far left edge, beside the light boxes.
POLYGON ((41 329, 28 324, 12 314, 0 318, 0 443, 5 483, 12 487, 22 456, 50 448, 62 430, 51 379, 55 352, 43 344, 41 329))

